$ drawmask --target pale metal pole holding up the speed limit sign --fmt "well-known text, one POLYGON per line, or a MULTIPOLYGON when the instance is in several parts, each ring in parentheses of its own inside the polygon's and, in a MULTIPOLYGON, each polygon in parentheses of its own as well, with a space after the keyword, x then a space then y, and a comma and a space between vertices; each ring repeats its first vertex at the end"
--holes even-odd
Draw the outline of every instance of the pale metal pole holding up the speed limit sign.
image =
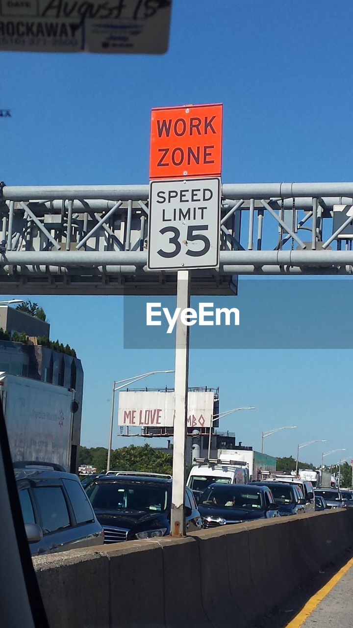
MULTIPOLYGON (((190 307, 189 271, 178 271, 176 307, 190 307)), ((187 437, 189 327, 178 317, 175 336, 175 418, 173 437, 173 486, 171 536, 185 536, 185 454, 187 437)))

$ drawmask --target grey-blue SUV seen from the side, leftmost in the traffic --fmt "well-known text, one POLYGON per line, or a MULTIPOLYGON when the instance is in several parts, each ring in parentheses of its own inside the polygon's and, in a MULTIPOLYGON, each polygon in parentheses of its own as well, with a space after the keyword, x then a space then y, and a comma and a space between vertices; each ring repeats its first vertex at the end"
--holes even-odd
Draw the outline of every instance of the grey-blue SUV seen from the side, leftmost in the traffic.
POLYGON ((102 545, 104 532, 77 475, 59 465, 14 464, 32 556, 102 545))

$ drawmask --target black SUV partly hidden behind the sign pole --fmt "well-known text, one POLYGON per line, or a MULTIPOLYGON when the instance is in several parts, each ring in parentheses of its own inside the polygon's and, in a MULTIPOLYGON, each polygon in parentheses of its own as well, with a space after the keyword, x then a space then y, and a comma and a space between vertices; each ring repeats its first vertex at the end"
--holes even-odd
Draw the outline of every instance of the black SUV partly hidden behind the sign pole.
MULTIPOLYGON (((171 477, 160 475, 106 475, 86 489, 104 543, 149 539, 170 533, 171 477)), ((202 519, 190 489, 185 489, 187 531, 202 528, 202 519)))

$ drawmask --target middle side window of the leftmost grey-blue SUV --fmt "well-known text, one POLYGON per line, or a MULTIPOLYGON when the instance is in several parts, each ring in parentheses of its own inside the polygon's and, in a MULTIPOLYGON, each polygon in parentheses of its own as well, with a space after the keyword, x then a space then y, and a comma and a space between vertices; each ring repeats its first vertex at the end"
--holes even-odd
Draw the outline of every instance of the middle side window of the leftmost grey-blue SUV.
POLYGON ((44 533, 70 526, 67 504, 60 486, 40 486, 33 489, 44 533))

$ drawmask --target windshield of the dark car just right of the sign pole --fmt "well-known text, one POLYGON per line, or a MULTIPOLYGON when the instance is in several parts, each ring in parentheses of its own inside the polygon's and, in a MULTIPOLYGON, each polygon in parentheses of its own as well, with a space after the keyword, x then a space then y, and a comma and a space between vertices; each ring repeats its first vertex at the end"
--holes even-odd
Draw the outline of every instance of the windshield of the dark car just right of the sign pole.
POLYGON ((234 485, 229 487, 210 487, 200 499, 204 507, 234 507, 246 510, 263 509, 263 495, 255 489, 240 489, 234 485))

